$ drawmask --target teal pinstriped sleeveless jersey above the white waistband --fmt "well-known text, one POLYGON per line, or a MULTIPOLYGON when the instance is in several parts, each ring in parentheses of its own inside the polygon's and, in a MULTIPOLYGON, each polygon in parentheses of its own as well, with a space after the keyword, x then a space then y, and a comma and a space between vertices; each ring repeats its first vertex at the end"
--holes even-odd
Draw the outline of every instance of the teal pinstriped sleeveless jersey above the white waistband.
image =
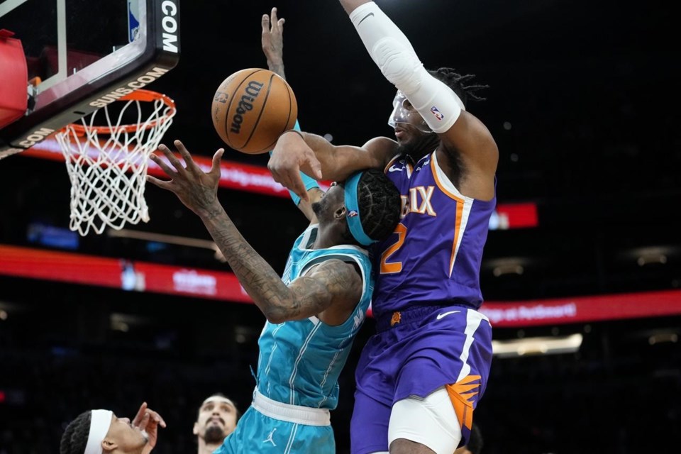
POLYGON ((288 285, 324 260, 355 263, 362 273, 360 302, 338 326, 329 326, 314 316, 279 324, 265 323, 258 340, 257 380, 258 391, 272 400, 332 410, 338 404, 338 375, 365 319, 374 282, 367 251, 353 245, 309 249, 316 234, 314 225, 297 238, 282 281, 288 285))

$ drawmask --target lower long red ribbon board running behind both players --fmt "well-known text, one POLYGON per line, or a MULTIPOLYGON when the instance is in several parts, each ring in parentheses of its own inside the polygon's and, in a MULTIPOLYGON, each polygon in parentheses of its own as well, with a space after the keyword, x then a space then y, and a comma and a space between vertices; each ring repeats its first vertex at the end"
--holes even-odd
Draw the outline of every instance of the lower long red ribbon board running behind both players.
MULTIPOLYGON (((0 245, 0 275, 236 303, 252 302, 231 272, 9 245, 0 245)), ((681 315, 681 290, 535 301, 489 301, 482 305, 480 311, 497 328, 681 315)))

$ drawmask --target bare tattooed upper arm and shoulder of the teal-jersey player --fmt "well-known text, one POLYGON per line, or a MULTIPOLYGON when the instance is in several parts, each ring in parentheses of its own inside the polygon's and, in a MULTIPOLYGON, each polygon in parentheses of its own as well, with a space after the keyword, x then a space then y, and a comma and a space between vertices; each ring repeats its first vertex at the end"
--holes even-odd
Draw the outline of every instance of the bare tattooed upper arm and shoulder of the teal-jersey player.
POLYGON ((289 289, 294 298, 287 319, 319 316, 328 325, 340 325, 362 297, 362 277, 354 265, 331 259, 294 280, 289 289))

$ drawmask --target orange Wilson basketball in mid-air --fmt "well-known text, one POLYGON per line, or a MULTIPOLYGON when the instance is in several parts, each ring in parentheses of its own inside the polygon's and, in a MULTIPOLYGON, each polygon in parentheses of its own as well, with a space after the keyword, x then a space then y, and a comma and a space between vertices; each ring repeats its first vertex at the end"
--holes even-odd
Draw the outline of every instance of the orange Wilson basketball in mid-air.
POLYGON ((234 150, 267 153, 279 135, 292 129, 298 104, 289 84, 269 70, 251 68, 227 77, 211 107, 213 126, 234 150))

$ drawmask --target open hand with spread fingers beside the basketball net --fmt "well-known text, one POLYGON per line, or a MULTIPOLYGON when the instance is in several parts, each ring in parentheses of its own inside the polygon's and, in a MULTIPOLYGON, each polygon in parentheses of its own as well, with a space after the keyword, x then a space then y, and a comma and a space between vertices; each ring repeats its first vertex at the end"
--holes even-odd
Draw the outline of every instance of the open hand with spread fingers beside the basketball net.
POLYGON ((151 160, 161 167, 163 172, 172 179, 166 182, 147 175, 147 181, 155 184, 157 187, 174 192, 187 208, 199 216, 211 214, 215 211, 216 207, 220 206, 218 202, 220 159, 225 150, 220 148, 216 151, 215 155, 213 155, 213 166, 206 173, 196 165, 182 142, 175 140, 175 146, 179 154, 182 155, 187 167, 184 167, 182 162, 179 162, 167 146, 159 145, 158 149, 165 155, 170 165, 161 160, 158 155, 151 155, 151 160))

